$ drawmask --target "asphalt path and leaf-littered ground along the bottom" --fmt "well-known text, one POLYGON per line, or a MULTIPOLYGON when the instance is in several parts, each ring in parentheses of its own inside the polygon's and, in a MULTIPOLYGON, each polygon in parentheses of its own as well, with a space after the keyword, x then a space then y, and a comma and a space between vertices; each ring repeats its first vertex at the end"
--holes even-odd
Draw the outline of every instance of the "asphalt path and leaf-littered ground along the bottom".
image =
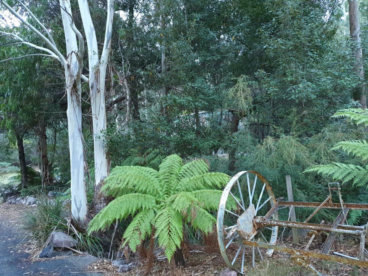
MULTIPOLYGON (((0 275, 119 275, 117 267, 112 267, 110 261, 93 258, 88 255, 70 254, 50 259, 38 259, 35 255, 39 248, 34 248, 24 238, 26 233, 19 229, 21 216, 29 206, 0 204, 0 275)), ((300 238, 301 244, 307 244, 306 238, 300 238)), ((311 245, 311 250, 321 247, 323 237, 317 238, 311 245)), ((289 241, 281 244, 291 246, 289 241)), ((333 250, 353 255, 358 244, 352 239, 337 241, 333 250)), ((302 247, 300 247, 302 248, 302 247)), ((162 255, 153 264, 149 275, 176 275, 176 276, 218 276, 226 268, 222 257, 217 250, 217 244, 207 247, 192 246, 187 264, 180 269, 172 269, 162 255)), ((263 254, 264 255, 264 254, 263 254)), ((256 268, 251 268, 251 250, 245 255, 245 275, 315 275, 290 260, 290 255, 283 252, 274 252, 272 257, 265 261, 256 259, 256 268)), ((130 272, 120 275, 145 275, 145 261, 131 259, 137 266, 130 272)), ((335 262, 312 259, 311 264, 321 273, 329 276, 368 275, 368 269, 356 266, 341 265, 335 262)))

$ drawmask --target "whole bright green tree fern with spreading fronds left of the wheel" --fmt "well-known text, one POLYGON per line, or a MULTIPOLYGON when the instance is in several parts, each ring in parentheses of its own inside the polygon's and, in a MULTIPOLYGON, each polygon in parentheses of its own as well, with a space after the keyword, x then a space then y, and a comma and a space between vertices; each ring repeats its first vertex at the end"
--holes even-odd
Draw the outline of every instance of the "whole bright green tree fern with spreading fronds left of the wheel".
MULTIPOLYGON (((135 251, 151 236, 154 226, 155 237, 170 261, 183 241, 183 223, 188 226, 184 229, 203 233, 213 229, 215 217, 210 212, 217 210, 222 188, 230 177, 208 171, 205 160, 183 164, 178 155, 163 159, 159 171, 139 166, 115 167, 102 191, 116 199, 91 220, 89 233, 132 216, 123 235, 124 245, 135 251)), ((227 209, 235 208, 235 201, 229 200, 227 209)))

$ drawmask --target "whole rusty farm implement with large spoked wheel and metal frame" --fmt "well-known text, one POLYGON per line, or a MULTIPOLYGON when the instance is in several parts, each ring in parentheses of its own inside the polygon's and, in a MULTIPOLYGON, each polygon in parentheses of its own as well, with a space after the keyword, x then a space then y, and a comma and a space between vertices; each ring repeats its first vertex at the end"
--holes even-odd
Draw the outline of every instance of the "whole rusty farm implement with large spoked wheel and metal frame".
POLYGON ((265 255, 271 256, 276 250, 287 252, 298 264, 314 270, 318 275, 322 274, 315 270, 309 258, 368 267, 364 257, 367 225, 351 226, 346 223, 349 210, 368 210, 368 204, 344 203, 339 184, 329 183, 328 187, 329 194, 323 202, 281 201, 276 200, 271 186, 261 174, 256 171, 237 173, 223 190, 217 214, 217 238, 227 266, 243 274, 247 265, 245 254, 251 252, 254 267, 256 259, 263 260, 265 255), (332 192, 335 191, 339 202, 332 201, 332 192), (280 209, 291 210, 293 207, 314 208, 314 211, 304 222, 279 220, 280 209), (309 223, 319 210, 325 208, 340 211, 332 225, 309 223), (279 228, 284 227, 308 230, 309 240, 303 249, 277 244, 279 228), (312 241, 322 232, 328 234, 322 248, 309 250, 312 241), (356 256, 331 252, 338 234, 354 236, 359 240, 356 256))

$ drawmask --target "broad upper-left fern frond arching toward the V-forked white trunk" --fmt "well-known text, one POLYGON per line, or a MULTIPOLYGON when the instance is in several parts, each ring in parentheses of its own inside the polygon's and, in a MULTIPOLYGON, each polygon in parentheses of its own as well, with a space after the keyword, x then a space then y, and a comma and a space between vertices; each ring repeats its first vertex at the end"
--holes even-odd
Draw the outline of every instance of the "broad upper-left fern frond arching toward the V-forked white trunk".
POLYGON ((108 196, 116 197, 121 190, 126 188, 140 193, 159 195, 161 185, 158 171, 139 166, 114 167, 110 175, 105 178, 102 191, 108 196))

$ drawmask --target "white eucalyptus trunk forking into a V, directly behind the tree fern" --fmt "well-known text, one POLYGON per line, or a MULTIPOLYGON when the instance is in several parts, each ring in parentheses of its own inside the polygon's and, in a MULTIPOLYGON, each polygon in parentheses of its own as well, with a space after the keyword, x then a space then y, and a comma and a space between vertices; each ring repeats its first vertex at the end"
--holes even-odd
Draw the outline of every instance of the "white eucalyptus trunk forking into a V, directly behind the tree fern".
POLYGON ((95 194, 93 203, 95 212, 99 212, 106 206, 106 198, 100 189, 103 180, 107 177, 107 158, 105 151, 105 139, 103 132, 106 131, 106 110, 105 110, 105 79, 107 62, 111 49, 111 36, 114 18, 114 0, 107 0, 107 20, 105 30, 105 41, 101 57, 98 54, 98 45, 95 27, 93 26, 91 14, 87 0, 78 0, 81 11, 84 32, 88 47, 88 67, 89 67, 89 89, 92 106, 93 123, 93 146, 95 156, 95 194))

